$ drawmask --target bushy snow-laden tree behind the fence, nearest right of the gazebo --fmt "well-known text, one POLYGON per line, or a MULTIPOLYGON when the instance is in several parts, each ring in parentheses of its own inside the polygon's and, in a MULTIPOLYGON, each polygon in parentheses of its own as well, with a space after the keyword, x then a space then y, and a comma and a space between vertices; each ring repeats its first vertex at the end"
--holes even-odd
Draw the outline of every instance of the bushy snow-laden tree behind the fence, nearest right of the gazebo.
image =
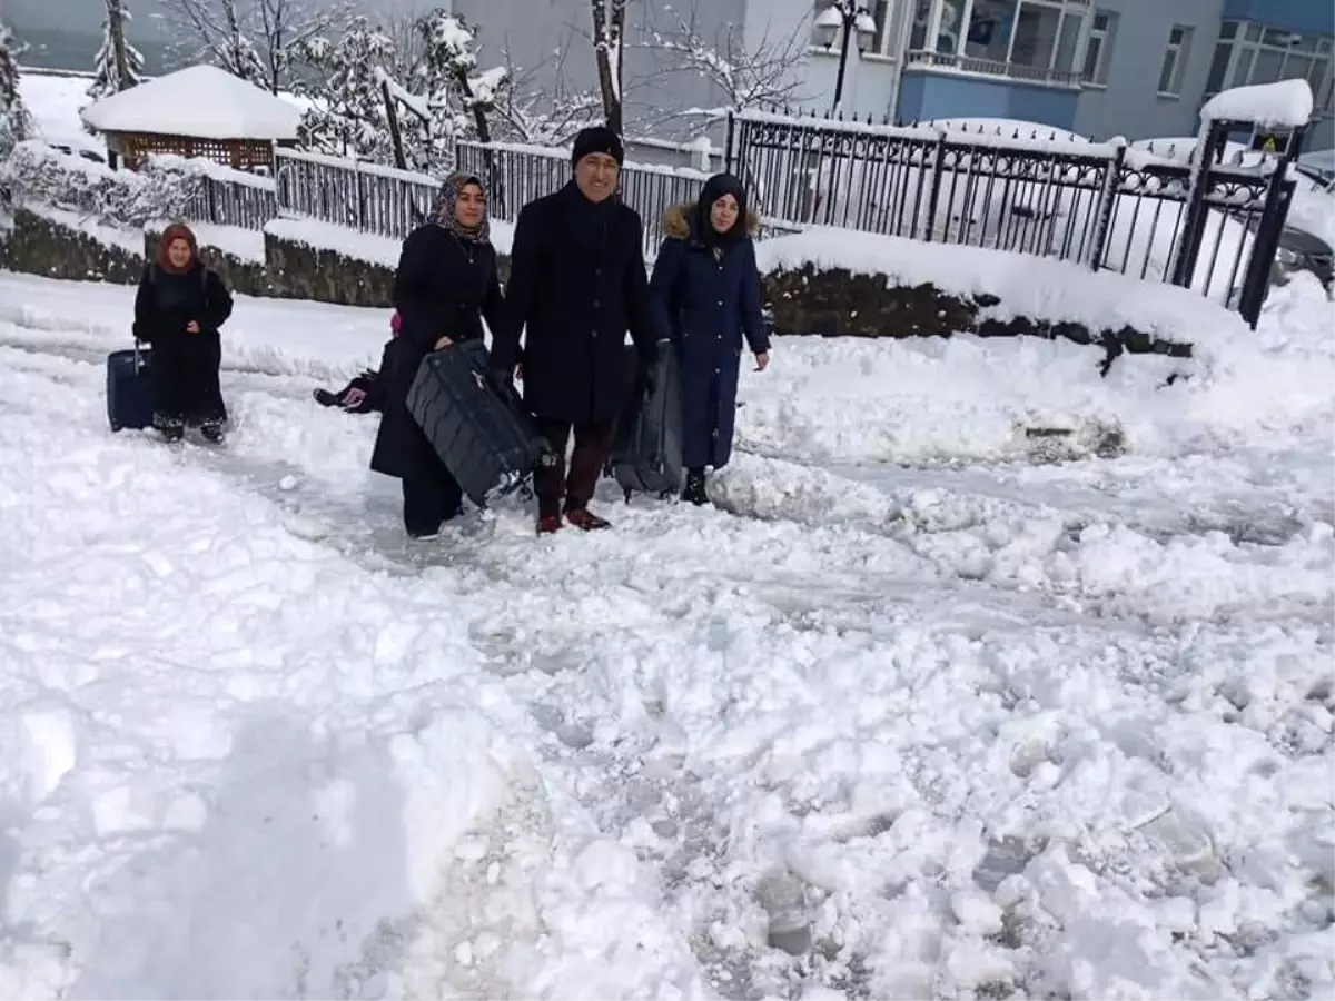
POLYGON ((302 119, 302 141, 339 156, 388 163, 391 136, 383 80, 392 79, 398 61, 388 33, 366 17, 354 17, 336 41, 310 37, 296 55, 316 72, 316 79, 302 88, 314 99, 302 119))

